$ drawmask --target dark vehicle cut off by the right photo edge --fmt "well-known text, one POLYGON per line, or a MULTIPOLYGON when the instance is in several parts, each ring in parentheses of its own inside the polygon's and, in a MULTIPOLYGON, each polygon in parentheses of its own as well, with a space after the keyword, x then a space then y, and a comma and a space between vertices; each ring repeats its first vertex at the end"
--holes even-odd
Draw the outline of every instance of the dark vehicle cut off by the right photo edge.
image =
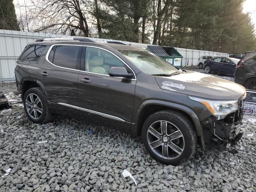
POLYGON ((246 89, 256 90, 256 51, 246 52, 236 66, 235 82, 246 89))

